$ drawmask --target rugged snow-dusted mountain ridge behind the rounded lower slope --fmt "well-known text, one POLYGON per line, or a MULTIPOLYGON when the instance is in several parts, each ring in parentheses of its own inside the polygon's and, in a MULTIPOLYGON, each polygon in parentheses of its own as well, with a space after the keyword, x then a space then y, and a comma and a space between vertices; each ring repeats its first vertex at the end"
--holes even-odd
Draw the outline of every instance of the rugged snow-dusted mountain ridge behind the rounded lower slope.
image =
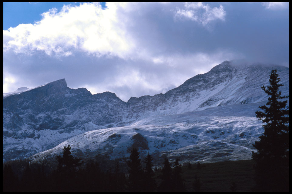
MULTIPOLYGON (((281 82, 284 84, 280 88, 282 94, 287 95, 289 93, 289 68, 282 66, 276 68, 281 82)), ((148 117, 160 118, 161 115, 177 115, 196 111, 196 113, 206 114, 206 118, 209 118, 217 112, 220 117, 228 116, 229 119, 238 121, 240 118, 233 117, 248 116, 254 122, 255 115, 252 114, 254 114, 255 108, 267 100, 267 95, 260 86, 268 85, 270 70, 271 66, 236 66, 232 62, 224 61, 208 73, 196 75, 165 94, 131 97, 128 102, 123 102, 111 92, 92 95, 85 88, 70 89, 67 87, 65 79, 16 95, 4 96, 3 160, 29 157, 32 154, 49 150, 63 141, 87 131, 121 130, 127 126, 130 130, 133 128, 130 126, 136 125, 144 129, 146 124, 137 124, 137 122, 143 122, 148 117), (248 109, 249 104, 258 102, 260 104, 251 108, 253 112, 248 113, 249 115, 244 115, 247 112, 243 111, 244 108, 239 108, 240 105, 246 105, 242 107, 248 109), (227 113, 227 110, 230 109, 235 110, 229 111, 235 115, 227 113), (242 115, 240 112, 244 114, 242 115)), ((171 121, 168 119, 169 117, 166 118, 166 121, 171 121)), ((198 119, 200 123, 205 120, 198 119)), ((158 128, 168 126, 167 123, 157 124, 156 121, 150 124, 157 125, 158 128)), ((183 122, 177 119, 174 121, 183 122)), ((210 119, 206 120, 207 123, 209 121, 210 119)), ((253 125, 257 126, 258 123, 254 122, 253 125)), ((156 132, 153 133, 151 132, 153 136, 160 138, 156 132)), ((139 134, 143 136, 143 133, 139 134)), ((145 140, 150 141, 147 137, 145 140)), ((98 139, 95 141, 99 142, 98 139)), ((174 141, 179 140, 174 139, 174 141)), ((171 152, 174 148, 182 149, 185 144, 182 144, 181 140, 179 142, 179 146, 166 145, 167 149, 163 151, 171 152)), ((151 146, 148 144, 147 146, 150 149, 151 146)))

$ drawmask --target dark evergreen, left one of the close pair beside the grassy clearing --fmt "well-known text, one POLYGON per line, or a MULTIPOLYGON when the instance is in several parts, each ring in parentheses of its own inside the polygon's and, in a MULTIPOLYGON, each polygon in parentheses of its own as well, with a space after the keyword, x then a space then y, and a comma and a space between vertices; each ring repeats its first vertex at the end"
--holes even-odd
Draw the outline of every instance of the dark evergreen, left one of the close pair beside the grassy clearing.
POLYGON ((162 168, 161 184, 159 186, 159 192, 172 192, 173 191, 173 180, 172 180, 172 169, 167 158, 164 159, 162 168))

